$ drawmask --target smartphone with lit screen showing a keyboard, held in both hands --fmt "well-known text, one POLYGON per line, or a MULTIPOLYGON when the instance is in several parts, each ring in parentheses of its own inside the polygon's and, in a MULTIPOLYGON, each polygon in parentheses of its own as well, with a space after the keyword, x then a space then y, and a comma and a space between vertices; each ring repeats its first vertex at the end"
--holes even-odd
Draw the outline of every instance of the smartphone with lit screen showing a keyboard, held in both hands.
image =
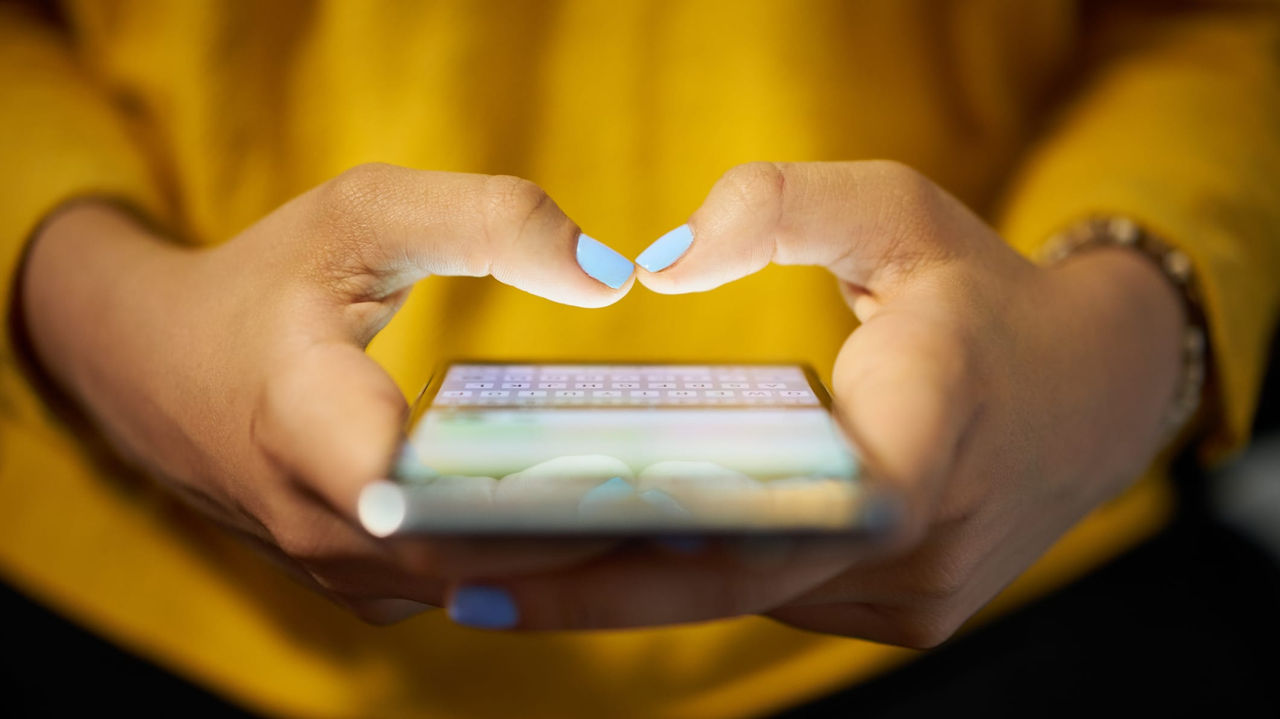
POLYGON ((883 531, 804 365, 453 362, 410 416, 378 536, 883 531))

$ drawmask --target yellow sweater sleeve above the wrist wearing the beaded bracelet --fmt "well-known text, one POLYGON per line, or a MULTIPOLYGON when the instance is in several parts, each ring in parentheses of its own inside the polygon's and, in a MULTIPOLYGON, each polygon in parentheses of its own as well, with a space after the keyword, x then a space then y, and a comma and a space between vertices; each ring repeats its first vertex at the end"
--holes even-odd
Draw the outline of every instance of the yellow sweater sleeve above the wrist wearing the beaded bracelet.
POLYGON ((1093 70, 1015 175, 1000 229, 1034 253, 1091 214, 1192 257, 1211 335, 1213 459, 1248 439, 1280 303, 1280 9, 1091 18, 1093 70))

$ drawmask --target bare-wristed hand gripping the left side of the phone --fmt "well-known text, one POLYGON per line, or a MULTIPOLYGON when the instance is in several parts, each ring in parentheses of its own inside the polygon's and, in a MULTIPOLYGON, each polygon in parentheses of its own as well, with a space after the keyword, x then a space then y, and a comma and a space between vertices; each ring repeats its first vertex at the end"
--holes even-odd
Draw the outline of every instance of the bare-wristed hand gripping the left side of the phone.
POLYGON ((366 620, 396 620, 442 604, 445 578, 609 548, 376 540, 355 522, 407 411, 364 348, 413 283, 492 275, 611 304, 634 278, 613 289, 588 275, 580 234, 527 180, 389 165, 348 170, 211 249, 81 202, 33 241, 24 320, 44 367, 122 455, 366 620))

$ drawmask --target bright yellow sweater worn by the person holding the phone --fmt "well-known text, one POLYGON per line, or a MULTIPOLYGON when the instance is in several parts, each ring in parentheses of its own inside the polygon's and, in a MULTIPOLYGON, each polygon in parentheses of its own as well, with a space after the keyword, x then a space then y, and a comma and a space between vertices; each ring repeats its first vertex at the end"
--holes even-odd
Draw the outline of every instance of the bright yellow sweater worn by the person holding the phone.
MULTIPOLYGON (((1280 302, 1280 17, 1119 5, 86 0, 63 29, 0 5, 0 278, 12 285, 41 216, 83 194, 215 243, 357 162, 509 173, 634 256, 735 164, 890 157, 1028 252, 1092 212, 1187 248, 1217 362, 1204 449, 1220 454, 1247 435, 1280 302)), ((852 326, 814 269, 599 311, 433 278, 370 352, 407 393, 457 354, 786 356, 829 372, 852 326)), ((0 352, 3 578, 261 711, 742 716, 913 655, 755 618, 541 636, 440 613, 367 627, 96 463, 8 335, 0 352)), ((984 615, 1130 546, 1169 509, 1153 472, 984 615)))

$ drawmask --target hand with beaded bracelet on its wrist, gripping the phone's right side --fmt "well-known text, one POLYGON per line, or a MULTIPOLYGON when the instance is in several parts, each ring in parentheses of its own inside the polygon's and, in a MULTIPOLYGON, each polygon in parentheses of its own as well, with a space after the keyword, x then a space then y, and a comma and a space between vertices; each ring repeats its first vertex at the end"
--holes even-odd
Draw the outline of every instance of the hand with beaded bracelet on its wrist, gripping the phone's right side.
POLYGON ((692 244, 673 264, 641 262, 657 270, 640 271, 650 289, 704 292, 769 262, 824 265, 840 280, 861 326, 836 358, 833 394, 870 473, 905 498, 897 535, 877 548, 636 550, 454 587, 456 617, 602 628, 755 613, 931 646, 1158 449, 1183 319, 1138 255, 1037 267, 892 162, 745 165, 689 224, 692 244))

